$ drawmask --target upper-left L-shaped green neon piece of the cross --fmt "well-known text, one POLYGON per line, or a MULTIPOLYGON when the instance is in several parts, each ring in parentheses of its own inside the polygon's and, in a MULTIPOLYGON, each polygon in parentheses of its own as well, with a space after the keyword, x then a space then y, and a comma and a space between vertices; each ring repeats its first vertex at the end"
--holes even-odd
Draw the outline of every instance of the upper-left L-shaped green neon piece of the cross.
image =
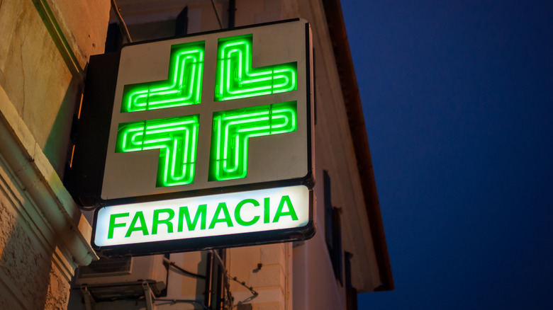
POLYGON ((200 103, 204 45, 203 41, 172 45, 167 80, 125 85, 121 112, 200 103))

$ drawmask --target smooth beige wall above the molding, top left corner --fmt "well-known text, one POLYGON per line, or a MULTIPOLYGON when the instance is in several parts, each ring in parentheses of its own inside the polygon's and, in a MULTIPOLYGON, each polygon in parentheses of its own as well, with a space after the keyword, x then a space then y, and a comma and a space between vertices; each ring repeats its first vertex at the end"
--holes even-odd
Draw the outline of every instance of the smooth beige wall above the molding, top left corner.
POLYGON ((104 52, 108 10, 107 0, 0 1, 0 86, 60 176, 83 69, 104 52))

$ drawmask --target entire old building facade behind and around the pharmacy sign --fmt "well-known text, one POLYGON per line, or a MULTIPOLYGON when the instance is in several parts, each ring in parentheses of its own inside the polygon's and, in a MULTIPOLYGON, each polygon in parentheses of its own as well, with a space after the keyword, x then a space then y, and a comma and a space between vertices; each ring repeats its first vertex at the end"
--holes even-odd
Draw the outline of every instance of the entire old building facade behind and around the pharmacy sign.
POLYGON ((116 2, 133 42, 310 23, 317 232, 294 243, 98 260, 91 212, 79 209, 64 175, 89 57, 128 42, 125 27, 108 0, 4 0, 0 308, 356 309, 358 292, 393 289, 340 2, 116 2))

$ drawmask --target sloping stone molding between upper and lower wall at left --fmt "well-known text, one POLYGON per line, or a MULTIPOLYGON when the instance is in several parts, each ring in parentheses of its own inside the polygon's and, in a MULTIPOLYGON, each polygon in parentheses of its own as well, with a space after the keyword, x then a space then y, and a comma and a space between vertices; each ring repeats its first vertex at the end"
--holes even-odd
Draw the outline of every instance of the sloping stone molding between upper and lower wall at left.
POLYGON ((97 256, 91 226, 0 86, 1 190, 67 280, 97 256))

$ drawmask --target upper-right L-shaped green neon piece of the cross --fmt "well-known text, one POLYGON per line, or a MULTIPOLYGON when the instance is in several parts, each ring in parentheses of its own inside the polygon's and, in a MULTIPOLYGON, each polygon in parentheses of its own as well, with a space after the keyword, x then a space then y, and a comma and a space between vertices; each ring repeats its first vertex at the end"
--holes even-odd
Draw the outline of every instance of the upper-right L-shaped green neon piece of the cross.
POLYGON ((295 91, 296 62, 252 68, 252 35, 219 39, 215 101, 295 91))

